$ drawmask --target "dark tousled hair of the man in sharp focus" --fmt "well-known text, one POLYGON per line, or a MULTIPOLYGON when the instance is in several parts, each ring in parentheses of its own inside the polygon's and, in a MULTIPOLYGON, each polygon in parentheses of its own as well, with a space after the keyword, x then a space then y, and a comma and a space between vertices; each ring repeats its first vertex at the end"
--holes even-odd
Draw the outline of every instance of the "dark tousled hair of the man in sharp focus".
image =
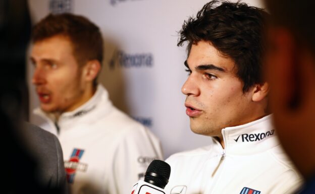
POLYGON ((264 29, 268 14, 245 3, 211 1, 197 16, 184 22, 178 46, 188 41, 187 51, 199 41, 210 42, 236 64, 236 75, 243 83, 243 92, 262 83, 261 66, 265 51, 264 29))

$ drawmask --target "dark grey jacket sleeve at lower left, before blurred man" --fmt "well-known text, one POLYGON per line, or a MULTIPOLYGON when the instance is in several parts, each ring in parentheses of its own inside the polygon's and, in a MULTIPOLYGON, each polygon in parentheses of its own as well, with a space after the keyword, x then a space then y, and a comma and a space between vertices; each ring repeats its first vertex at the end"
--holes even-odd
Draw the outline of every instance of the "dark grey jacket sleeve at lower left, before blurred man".
POLYGON ((58 138, 38 126, 24 123, 27 146, 36 161, 35 175, 38 184, 58 193, 67 193, 63 151, 58 138))

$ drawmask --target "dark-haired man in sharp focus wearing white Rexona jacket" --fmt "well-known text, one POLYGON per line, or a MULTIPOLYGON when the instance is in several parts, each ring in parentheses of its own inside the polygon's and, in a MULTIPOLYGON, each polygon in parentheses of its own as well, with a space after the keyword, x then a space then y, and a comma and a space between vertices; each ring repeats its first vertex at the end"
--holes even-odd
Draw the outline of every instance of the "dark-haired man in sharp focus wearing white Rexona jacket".
POLYGON ((212 144, 167 159, 167 193, 279 194, 301 184, 277 141, 261 77, 267 17, 244 3, 212 1, 184 22, 186 114, 212 144))

